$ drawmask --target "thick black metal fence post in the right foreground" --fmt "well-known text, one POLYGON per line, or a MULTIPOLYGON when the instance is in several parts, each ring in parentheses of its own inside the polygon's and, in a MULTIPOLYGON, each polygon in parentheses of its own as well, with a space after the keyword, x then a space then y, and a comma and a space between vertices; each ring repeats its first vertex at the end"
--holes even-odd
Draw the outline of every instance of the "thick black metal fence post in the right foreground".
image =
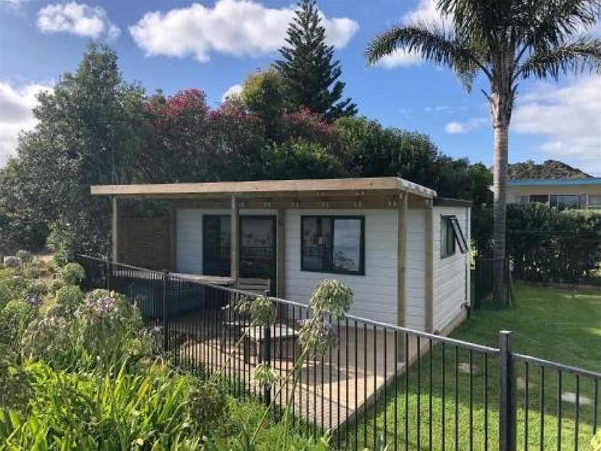
POLYGON ((499 332, 499 450, 515 451, 515 398, 511 332, 499 332))

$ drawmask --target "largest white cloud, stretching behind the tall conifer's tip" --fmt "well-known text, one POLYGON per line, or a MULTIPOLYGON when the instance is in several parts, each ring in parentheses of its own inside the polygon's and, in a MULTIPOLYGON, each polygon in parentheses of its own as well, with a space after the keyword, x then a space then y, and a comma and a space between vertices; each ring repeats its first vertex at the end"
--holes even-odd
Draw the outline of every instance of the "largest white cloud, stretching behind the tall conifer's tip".
MULTIPOLYGON (((193 55, 206 62, 211 52, 255 56, 273 52, 285 44, 286 29, 294 6, 266 8, 253 0, 218 0, 213 8, 193 3, 166 13, 146 13, 129 33, 148 56, 193 55)), ((326 41, 341 48, 358 31, 359 24, 346 17, 327 18, 326 41)))

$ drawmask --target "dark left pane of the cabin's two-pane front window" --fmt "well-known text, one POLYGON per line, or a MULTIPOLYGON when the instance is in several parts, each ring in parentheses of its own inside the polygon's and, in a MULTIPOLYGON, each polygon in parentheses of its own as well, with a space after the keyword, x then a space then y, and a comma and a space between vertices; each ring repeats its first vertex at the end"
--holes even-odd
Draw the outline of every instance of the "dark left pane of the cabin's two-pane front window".
POLYGON ((303 269, 330 271, 332 227, 330 218, 303 217, 303 269))

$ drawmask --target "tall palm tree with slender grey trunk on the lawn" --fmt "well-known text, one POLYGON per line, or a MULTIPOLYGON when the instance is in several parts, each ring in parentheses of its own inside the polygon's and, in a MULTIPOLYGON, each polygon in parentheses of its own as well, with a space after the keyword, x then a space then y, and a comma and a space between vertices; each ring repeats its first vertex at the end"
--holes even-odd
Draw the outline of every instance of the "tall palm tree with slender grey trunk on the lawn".
POLYGON ((479 74, 488 80, 482 92, 494 130, 494 291, 504 303, 508 129, 518 81, 601 72, 601 40, 580 34, 599 19, 601 0, 438 0, 438 10, 451 26, 393 26, 369 44, 367 61, 404 49, 454 70, 468 92, 479 74))

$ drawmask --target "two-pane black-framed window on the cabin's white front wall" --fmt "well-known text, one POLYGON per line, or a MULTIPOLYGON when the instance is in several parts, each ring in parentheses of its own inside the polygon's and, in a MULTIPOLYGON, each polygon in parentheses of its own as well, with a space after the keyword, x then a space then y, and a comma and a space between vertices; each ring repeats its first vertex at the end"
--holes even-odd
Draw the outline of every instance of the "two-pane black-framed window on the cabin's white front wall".
POLYGON ((365 274, 362 216, 302 216, 300 269, 365 274))

